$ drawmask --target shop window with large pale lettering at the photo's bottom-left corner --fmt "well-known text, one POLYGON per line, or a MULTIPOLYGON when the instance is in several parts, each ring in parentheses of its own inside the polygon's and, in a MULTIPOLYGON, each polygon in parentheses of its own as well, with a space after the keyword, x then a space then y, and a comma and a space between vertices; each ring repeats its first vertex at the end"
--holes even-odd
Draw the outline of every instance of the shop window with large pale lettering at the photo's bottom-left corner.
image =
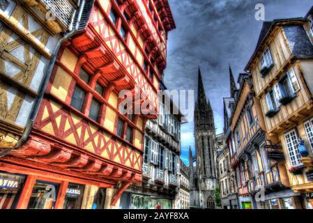
POLYGON ((0 172, 0 209, 15 208, 25 176, 0 172))

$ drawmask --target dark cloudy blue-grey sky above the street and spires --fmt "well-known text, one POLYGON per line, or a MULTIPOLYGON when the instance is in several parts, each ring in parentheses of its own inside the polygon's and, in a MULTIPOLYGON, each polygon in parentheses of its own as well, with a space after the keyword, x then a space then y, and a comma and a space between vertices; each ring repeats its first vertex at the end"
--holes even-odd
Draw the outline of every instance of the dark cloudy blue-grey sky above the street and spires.
MULTIPOLYGON (((254 18, 256 4, 264 4, 265 20, 304 17, 313 5, 312 0, 169 0, 169 3, 176 30, 169 33, 165 85, 169 90, 192 89, 197 93, 200 66, 217 134, 223 131, 222 98, 230 95, 228 64, 237 80, 259 38, 263 22, 254 18)), ((182 125, 181 158, 185 164, 189 146, 194 153, 193 125, 193 122, 182 125)))

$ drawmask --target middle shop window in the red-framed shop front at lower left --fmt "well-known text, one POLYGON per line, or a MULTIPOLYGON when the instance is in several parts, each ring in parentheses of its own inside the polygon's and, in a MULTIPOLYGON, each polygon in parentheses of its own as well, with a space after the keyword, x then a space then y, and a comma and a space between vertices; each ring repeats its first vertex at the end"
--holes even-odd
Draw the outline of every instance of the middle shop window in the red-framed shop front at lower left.
POLYGON ((59 184, 37 180, 31 192, 28 209, 54 209, 59 184))

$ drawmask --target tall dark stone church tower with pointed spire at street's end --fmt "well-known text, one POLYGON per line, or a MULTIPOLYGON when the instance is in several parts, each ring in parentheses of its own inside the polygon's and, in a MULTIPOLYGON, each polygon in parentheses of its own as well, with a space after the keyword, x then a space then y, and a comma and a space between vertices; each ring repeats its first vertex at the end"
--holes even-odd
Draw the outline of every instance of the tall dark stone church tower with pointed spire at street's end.
POLYGON ((206 100, 200 68, 198 95, 194 108, 194 139, 195 156, 192 156, 190 150, 190 206, 213 209, 217 185, 215 127, 211 104, 206 100))

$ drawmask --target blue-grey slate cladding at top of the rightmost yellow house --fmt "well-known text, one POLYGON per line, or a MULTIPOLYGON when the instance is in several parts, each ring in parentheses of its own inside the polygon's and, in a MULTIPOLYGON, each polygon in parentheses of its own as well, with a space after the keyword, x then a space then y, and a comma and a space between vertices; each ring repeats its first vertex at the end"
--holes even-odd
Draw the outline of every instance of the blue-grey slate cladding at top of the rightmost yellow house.
POLYGON ((313 58, 313 45, 303 26, 284 26, 284 33, 296 59, 313 58))

